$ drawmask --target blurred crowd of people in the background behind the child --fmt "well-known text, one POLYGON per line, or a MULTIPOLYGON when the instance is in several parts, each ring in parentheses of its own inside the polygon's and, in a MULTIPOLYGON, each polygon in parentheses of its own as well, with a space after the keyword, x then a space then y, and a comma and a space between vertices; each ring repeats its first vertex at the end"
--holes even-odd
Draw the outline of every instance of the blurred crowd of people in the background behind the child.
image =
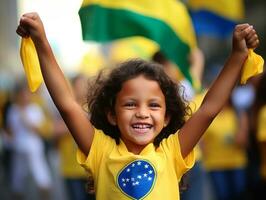
MULTIPOLYGON (((162 64, 166 73, 184 86, 184 98, 192 112, 221 69, 230 46, 228 38, 203 35, 197 39, 199 48, 190 54, 191 73, 201 82, 196 89, 161 52, 148 58, 162 64)), ((80 72, 68 78, 87 112, 91 76, 80 72)), ((23 78, 13 85, 0 91, 0 199, 94 199, 93 188, 86 187, 89 177, 76 162, 77 146, 45 86, 31 93, 23 78)), ((197 161, 182 179, 181 199, 253 200, 266 196, 265 91, 265 72, 236 87, 196 147, 197 161)))

